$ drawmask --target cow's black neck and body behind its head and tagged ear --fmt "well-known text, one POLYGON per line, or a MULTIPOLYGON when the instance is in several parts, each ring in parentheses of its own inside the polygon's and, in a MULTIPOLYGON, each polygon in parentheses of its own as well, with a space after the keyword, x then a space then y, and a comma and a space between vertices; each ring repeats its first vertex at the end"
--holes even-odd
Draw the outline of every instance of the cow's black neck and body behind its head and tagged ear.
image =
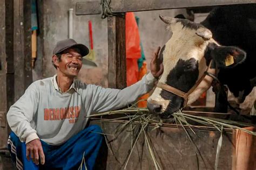
POLYGON ((215 8, 201 23, 221 45, 237 46, 247 53, 245 62, 232 69, 220 69, 218 79, 241 103, 251 92, 256 76, 256 4, 215 8), (250 81, 251 80, 251 81, 250 81))

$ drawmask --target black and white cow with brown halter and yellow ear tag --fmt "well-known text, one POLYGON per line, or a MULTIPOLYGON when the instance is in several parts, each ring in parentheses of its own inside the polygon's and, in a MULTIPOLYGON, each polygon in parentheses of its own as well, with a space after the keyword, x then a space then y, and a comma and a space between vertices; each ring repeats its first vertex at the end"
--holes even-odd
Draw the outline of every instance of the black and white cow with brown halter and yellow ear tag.
POLYGON ((214 9, 200 24, 160 16, 172 37, 161 48, 164 73, 147 100, 151 113, 169 118, 191 104, 218 79, 243 101, 255 77, 255 8, 232 5, 214 9), (206 71, 206 74, 205 74, 206 71))

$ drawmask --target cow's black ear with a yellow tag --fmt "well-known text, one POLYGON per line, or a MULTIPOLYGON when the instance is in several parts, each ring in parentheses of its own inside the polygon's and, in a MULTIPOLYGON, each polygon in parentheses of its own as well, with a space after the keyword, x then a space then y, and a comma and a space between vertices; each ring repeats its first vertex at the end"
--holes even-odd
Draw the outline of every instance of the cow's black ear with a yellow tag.
POLYGON ((218 68, 232 68, 246 59, 246 52, 233 46, 215 46, 211 56, 218 68))

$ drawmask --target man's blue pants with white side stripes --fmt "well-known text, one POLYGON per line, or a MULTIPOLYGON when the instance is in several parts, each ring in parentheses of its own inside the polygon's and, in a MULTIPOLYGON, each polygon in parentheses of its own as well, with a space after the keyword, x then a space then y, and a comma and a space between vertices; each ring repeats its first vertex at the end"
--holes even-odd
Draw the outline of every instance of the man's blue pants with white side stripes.
MULTIPOLYGON (((100 133, 102 130, 98 125, 91 125, 59 146, 48 145, 41 140, 45 155, 43 166, 34 164, 31 159, 30 161, 26 159, 26 145, 19 140, 14 132, 10 133, 8 148, 17 169, 78 169, 83 155, 86 168, 93 169, 103 140, 103 135, 100 133)), ((85 169, 84 166, 83 169, 85 169)))

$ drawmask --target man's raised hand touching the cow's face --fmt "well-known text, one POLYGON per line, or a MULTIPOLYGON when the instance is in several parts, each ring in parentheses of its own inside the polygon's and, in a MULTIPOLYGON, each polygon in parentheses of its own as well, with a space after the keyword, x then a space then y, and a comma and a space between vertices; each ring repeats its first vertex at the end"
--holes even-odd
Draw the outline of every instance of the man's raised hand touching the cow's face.
POLYGON ((158 53, 160 51, 160 47, 157 48, 157 50, 153 54, 153 58, 150 62, 150 68, 152 75, 158 79, 158 77, 163 74, 164 66, 163 63, 158 59, 158 53))

